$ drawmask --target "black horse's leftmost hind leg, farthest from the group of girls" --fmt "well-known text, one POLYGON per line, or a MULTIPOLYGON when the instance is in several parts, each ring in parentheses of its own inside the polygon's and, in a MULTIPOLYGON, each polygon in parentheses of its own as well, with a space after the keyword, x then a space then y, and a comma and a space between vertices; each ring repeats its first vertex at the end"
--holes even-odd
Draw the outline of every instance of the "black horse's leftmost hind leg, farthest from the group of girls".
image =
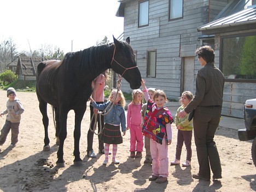
POLYGON ((44 125, 44 148, 43 148, 43 151, 49 152, 50 139, 48 136, 49 118, 47 116, 47 103, 43 100, 39 100, 39 109, 43 116, 42 121, 43 121, 43 125, 44 125))

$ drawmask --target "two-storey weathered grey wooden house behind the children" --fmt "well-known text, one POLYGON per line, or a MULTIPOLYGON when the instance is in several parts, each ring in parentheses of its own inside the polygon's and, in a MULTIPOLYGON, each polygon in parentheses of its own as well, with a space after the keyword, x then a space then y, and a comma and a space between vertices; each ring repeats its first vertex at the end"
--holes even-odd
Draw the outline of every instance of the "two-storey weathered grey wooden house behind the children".
MULTIPOLYGON (((212 46, 216 50, 216 66, 222 71, 225 67, 229 68, 222 61, 221 51, 221 36, 226 35, 223 32, 227 27, 223 25, 223 32, 218 33, 219 26, 216 29, 216 26, 207 24, 214 24, 214 21, 243 11, 248 5, 256 4, 255 1, 245 0, 119 2, 116 15, 124 17, 124 38, 131 39, 142 78, 146 80, 148 87, 164 90, 169 100, 178 100, 185 90, 195 92, 196 73, 201 68, 195 50, 200 46, 212 46)), ((254 20, 252 16, 245 25, 247 28, 241 31, 255 36, 254 20), (250 23, 254 26, 249 27, 250 23)), ((232 29, 234 28, 229 28, 228 35, 234 34, 232 29)), ((237 31, 237 34, 241 31, 237 31)), ((255 62, 256 60, 254 65, 255 62)), ((230 83, 233 74, 230 75, 225 80, 222 114, 242 118, 243 104, 248 98, 255 98, 256 78, 240 79, 237 83, 232 78, 231 82, 234 83, 230 83)), ((125 80, 122 82, 121 90, 131 92, 125 80)))

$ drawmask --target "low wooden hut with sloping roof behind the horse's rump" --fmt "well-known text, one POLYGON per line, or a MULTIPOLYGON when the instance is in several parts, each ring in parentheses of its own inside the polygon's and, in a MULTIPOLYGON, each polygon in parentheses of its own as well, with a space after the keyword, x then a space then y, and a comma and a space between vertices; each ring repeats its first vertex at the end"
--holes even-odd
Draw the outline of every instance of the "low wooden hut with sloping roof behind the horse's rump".
MULTIPOLYGON (((53 58, 20 56, 17 63, 16 74, 19 80, 36 80, 37 65, 53 58)), ((56 59, 58 60, 58 59, 56 59)))

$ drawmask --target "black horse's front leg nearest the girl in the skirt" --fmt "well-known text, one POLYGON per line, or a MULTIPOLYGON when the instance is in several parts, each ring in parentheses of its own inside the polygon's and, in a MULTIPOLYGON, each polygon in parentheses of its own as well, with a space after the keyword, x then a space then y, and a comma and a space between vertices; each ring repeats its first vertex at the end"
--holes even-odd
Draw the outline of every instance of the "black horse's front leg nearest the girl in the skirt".
POLYGON ((80 109, 75 110, 75 128, 74 128, 74 166, 82 166, 83 161, 80 158, 80 137, 81 137, 81 122, 86 110, 86 103, 80 106, 80 109), (83 106, 83 107, 82 107, 83 106))

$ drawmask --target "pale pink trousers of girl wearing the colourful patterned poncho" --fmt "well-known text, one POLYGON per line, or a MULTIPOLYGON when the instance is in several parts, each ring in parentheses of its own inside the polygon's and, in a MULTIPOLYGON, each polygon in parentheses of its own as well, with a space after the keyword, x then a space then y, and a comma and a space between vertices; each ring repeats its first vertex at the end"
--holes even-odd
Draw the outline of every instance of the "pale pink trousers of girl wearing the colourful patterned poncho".
POLYGON ((168 146, 166 139, 162 139, 162 144, 150 139, 150 153, 152 156, 152 174, 154 176, 168 177, 168 146))

